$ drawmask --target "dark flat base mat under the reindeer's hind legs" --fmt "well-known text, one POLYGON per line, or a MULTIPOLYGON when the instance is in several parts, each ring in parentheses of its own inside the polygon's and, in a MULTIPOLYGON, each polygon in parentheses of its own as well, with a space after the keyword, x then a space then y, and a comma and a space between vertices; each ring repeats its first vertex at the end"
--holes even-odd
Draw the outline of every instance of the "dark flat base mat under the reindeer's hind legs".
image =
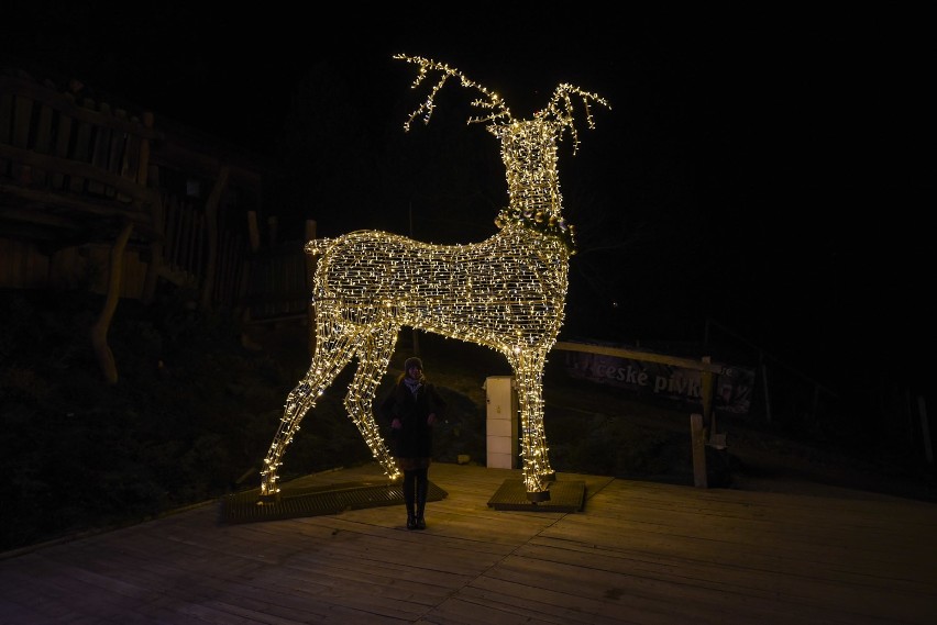
MULTIPOLYGON (((261 490, 254 489, 222 498, 221 521, 279 521, 404 504, 404 488, 399 482, 344 482, 302 489, 284 488, 278 501, 263 504, 260 503, 260 494, 261 490)), ((448 492, 430 481, 427 501, 440 501, 447 496, 448 492)))

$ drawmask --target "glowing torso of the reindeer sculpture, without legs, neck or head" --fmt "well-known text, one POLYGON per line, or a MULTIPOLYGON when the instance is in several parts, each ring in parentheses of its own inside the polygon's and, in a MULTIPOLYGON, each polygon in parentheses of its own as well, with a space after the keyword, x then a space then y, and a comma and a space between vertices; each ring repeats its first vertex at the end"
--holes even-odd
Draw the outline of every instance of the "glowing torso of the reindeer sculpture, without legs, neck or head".
MULTIPOLYGON (((306 250, 321 254, 317 315, 334 311, 335 302, 342 319, 355 326, 410 326, 505 354, 549 348, 562 323, 569 253, 553 239, 543 242, 547 254, 518 255, 531 237, 542 236, 510 225, 470 245, 432 245, 377 231, 313 241, 306 250), (382 256, 390 261, 377 268, 374 259, 382 256), (497 274, 496 282, 478 278, 489 271, 497 274), (447 279, 427 279, 434 276, 447 279), (453 322, 464 317, 473 320, 472 326, 453 322)), ((317 336, 330 333, 327 322, 318 320, 317 336)))

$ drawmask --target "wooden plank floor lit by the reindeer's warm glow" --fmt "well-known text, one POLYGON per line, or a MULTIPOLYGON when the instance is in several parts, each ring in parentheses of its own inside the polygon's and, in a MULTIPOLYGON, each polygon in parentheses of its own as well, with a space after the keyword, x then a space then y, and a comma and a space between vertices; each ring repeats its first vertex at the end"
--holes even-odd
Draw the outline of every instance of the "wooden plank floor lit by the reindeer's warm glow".
POLYGON ((519 477, 433 465, 425 532, 403 506, 224 524, 211 502, 4 554, 0 623, 937 623, 937 504, 561 473, 581 512, 488 507, 519 477))

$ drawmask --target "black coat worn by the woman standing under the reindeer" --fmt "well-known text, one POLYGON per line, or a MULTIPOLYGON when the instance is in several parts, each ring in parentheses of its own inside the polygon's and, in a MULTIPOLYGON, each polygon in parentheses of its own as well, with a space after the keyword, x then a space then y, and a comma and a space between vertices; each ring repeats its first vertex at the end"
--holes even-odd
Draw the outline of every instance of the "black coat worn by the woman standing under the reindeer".
POLYGON ((427 424, 427 417, 436 414, 436 418, 441 420, 445 412, 445 401, 439 397, 433 384, 425 380, 414 395, 404 378, 400 378, 381 404, 381 412, 388 424, 394 418, 400 420, 401 427, 390 429, 392 450, 395 456, 432 457, 432 426, 427 424))

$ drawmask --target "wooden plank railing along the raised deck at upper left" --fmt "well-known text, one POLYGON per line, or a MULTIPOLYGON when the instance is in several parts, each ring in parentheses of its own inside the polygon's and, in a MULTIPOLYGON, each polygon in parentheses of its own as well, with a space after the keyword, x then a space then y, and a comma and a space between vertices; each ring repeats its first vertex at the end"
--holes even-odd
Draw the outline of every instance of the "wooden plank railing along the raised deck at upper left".
POLYGON ((153 236, 159 199, 147 178, 151 142, 159 136, 150 113, 135 116, 23 74, 0 74, 3 219, 66 237, 87 235, 89 223, 129 223, 139 236, 153 236))

